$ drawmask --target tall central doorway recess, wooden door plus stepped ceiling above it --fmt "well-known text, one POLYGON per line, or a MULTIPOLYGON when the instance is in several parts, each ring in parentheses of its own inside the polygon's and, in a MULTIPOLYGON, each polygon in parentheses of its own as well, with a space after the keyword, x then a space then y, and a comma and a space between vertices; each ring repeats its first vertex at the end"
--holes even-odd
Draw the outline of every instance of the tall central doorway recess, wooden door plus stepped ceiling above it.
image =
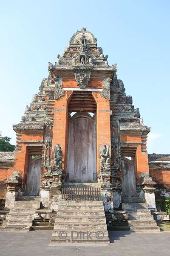
POLYGON ((96 182, 96 102, 91 91, 73 92, 68 113, 66 179, 96 182))

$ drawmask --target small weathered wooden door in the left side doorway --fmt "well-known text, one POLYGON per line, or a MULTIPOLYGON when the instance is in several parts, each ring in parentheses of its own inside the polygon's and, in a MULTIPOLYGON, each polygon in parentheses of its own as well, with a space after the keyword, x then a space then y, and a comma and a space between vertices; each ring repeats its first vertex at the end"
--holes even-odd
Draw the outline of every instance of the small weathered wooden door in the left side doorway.
POLYGON ((39 195, 41 180, 41 161, 42 158, 31 160, 28 164, 26 195, 39 195))

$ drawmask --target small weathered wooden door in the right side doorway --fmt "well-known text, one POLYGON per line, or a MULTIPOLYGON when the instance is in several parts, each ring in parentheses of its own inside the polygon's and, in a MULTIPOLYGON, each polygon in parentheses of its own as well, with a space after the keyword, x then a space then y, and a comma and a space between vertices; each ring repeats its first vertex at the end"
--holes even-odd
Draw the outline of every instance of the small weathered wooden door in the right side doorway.
POLYGON ((136 192, 136 175, 132 160, 125 157, 121 159, 122 163, 122 194, 124 196, 134 196, 136 192))

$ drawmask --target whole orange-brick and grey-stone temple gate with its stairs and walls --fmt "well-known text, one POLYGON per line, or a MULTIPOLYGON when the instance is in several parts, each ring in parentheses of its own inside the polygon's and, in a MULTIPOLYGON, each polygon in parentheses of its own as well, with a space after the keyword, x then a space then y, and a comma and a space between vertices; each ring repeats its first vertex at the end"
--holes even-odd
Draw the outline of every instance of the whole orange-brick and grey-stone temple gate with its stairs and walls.
POLYGON ((13 125, 16 150, 0 152, 1 230, 49 229, 51 243, 160 231, 157 216, 169 216, 155 195, 168 189, 170 155, 148 156, 150 127, 116 71, 85 28, 48 63, 13 125))

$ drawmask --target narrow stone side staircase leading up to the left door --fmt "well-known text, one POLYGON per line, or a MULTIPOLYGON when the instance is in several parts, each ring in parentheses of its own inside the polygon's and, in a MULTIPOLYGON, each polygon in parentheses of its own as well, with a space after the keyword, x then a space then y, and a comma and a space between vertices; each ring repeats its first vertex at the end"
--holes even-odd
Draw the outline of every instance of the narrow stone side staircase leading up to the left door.
POLYGON ((34 214, 40 208, 40 198, 33 196, 22 196, 20 201, 14 202, 14 207, 6 215, 6 220, 0 230, 30 230, 34 214))

